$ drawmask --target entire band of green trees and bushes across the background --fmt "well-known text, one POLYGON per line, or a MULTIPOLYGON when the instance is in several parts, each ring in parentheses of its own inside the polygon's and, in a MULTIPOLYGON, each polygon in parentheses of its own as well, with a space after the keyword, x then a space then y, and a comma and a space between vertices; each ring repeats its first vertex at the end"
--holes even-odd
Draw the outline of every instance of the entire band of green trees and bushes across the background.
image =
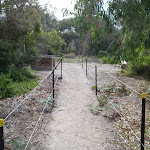
POLYGON ((26 80, 21 68, 40 55, 64 53, 111 64, 126 60, 128 74, 150 78, 148 0, 112 0, 107 10, 103 0, 77 0, 74 18, 61 21, 38 0, 2 1, 0 9, 0 75, 10 85, 26 80))

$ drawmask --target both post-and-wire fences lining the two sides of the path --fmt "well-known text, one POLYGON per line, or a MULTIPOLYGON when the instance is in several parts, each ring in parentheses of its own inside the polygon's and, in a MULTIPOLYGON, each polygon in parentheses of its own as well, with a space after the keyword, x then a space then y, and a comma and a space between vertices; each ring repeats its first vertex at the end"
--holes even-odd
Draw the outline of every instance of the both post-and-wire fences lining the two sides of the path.
MULTIPOLYGON (((85 60, 85 69, 86 69, 86 76, 88 76, 88 62, 94 64, 95 62, 93 62, 92 60, 90 60, 89 58, 81 58, 82 60, 82 68, 84 68, 84 60, 85 60)), ((113 109, 119 114, 120 118, 123 120, 123 122, 127 125, 127 127, 130 129, 130 131, 133 133, 133 135, 135 136, 135 138, 137 139, 137 141, 141 144, 141 150, 147 150, 146 146, 145 146, 145 137, 144 137, 144 133, 145 133, 145 101, 146 99, 148 101, 150 101, 149 98, 146 97, 146 94, 140 94, 139 92, 137 92, 135 89, 133 89, 132 87, 128 86, 126 83, 124 83, 123 81, 121 81, 120 79, 118 79, 117 77, 114 77, 112 74, 103 71, 98 65, 95 65, 95 94, 98 98, 98 73, 97 70, 100 69, 101 72, 107 74, 108 76, 110 76, 112 79, 117 80, 118 82, 122 83, 123 85, 125 85, 126 87, 128 87, 131 91, 137 93, 138 95, 140 95, 142 97, 142 115, 141 115, 141 138, 139 138, 136 133, 133 131, 133 129, 131 128, 131 125, 126 121, 124 115, 116 108, 116 106, 114 105, 114 103, 111 101, 111 99, 109 98, 109 96, 101 89, 101 91, 104 93, 105 97, 107 98, 107 100, 110 102, 110 104, 112 105, 113 109)), ((62 79, 62 58, 60 59, 60 61, 56 64, 56 66, 53 68, 52 72, 50 72, 50 74, 48 76, 46 76, 43 80, 40 81, 40 83, 23 99, 21 100, 20 103, 17 104, 17 106, 5 117, 5 119, 0 119, 0 150, 4 150, 4 124, 6 123, 6 121, 9 119, 9 117, 15 113, 15 111, 37 90, 37 88, 39 86, 41 86, 43 84, 43 82, 51 77, 53 78, 53 88, 52 91, 50 92, 50 96, 47 98, 47 101, 45 103, 45 105, 43 106, 43 109, 39 115, 39 118, 34 126, 34 129, 28 139, 27 144, 25 145, 25 149, 27 150, 27 148, 29 147, 29 143, 31 142, 34 133, 36 132, 36 129, 38 128, 38 124, 43 116, 43 113, 47 107, 48 102, 50 101, 51 103, 54 103, 54 98, 55 98, 55 86, 58 82, 58 79, 62 79), (61 76, 57 77, 55 80, 55 70, 57 69, 58 65, 61 63, 61 76), (52 98, 53 95, 53 98, 52 98)))

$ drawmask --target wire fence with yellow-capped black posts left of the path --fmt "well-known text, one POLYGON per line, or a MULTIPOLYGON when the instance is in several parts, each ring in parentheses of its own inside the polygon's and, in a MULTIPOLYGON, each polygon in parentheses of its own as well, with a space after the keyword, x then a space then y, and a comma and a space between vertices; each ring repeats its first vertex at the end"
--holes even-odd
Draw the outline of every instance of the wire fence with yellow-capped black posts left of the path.
POLYGON ((40 120, 41 120, 41 117, 42 117, 42 115, 43 115, 43 113, 44 113, 44 111, 45 111, 45 109, 46 109, 46 106, 47 106, 48 102, 50 101, 52 105, 53 105, 53 103, 54 103, 55 87, 56 87, 56 84, 58 83, 58 80, 59 80, 59 79, 62 79, 62 58, 59 60, 59 62, 58 62, 58 63, 56 64, 56 66, 52 69, 52 71, 49 73, 48 76, 46 76, 44 79, 42 79, 42 80, 40 81, 40 83, 39 83, 23 100, 21 100, 21 102, 19 102, 19 103, 16 105, 16 107, 15 107, 4 119, 0 119, 0 150, 4 150, 4 148, 5 148, 5 145, 4 145, 4 143, 5 143, 5 141, 4 141, 4 124, 6 123, 6 121, 9 119, 9 117, 10 117, 13 113, 15 113, 15 111, 16 111, 26 100, 29 99, 29 97, 37 90, 37 88, 38 88, 39 86, 41 86, 41 85, 43 84, 43 82, 44 82, 46 79, 50 78, 51 76, 52 76, 52 78, 53 78, 53 79, 52 79, 53 88, 52 88, 52 91, 50 92, 50 96, 47 98, 47 101, 46 101, 46 103, 45 103, 45 105, 44 105, 44 107, 43 107, 43 109, 42 109, 42 112, 41 112, 41 114, 40 114, 40 116, 39 116, 39 118, 38 118, 38 120, 37 120, 37 122, 36 122, 36 125, 35 125, 35 127, 34 127, 32 133, 31 133, 30 137, 29 137, 29 140, 28 140, 28 142, 27 142, 27 144, 26 144, 26 146, 25 146, 25 149, 24 149, 24 150, 27 150, 27 148, 28 148, 28 146, 29 146, 29 143, 30 143, 30 141, 31 141, 31 139, 32 139, 32 137, 33 137, 33 134, 35 133, 35 131, 36 131, 37 127, 38 127, 38 124, 39 124, 39 122, 40 122, 40 120), (55 80, 55 70, 57 69, 57 67, 58 67, 59 64, 61 64, 61 73, 60 73, 61 75, 60 75, 60 77, 57 77, 57 76, 56 76, 56 80, 55 80), (52 95, 53 95, 53 98, 51 98, 52 95), (52 101, 52 100, 53 100, 53 101, 52 101))

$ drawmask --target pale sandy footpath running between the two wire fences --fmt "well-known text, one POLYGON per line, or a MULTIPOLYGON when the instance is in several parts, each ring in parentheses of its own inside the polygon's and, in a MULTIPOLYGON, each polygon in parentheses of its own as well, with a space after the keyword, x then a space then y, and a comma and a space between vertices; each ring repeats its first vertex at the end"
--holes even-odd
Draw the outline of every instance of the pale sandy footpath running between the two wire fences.
POLYGON ((89 110, 96 96, 79 64, 63 65, 56 100, 41 143, 44 150, 117 150, 112 124, 89 110))

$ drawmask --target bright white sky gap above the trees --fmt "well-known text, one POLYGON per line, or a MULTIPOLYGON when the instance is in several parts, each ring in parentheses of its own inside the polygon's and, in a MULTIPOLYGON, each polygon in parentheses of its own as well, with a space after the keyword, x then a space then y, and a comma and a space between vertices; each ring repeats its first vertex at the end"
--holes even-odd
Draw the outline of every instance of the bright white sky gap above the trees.
POLYGON ((63 19, 62 9, 67 8, 69 11, 74 10, 75 0, 39 0, 41 5, 49 3, 52 5, 51 10, 54 10, 54 14, 58 20, 63 19))

